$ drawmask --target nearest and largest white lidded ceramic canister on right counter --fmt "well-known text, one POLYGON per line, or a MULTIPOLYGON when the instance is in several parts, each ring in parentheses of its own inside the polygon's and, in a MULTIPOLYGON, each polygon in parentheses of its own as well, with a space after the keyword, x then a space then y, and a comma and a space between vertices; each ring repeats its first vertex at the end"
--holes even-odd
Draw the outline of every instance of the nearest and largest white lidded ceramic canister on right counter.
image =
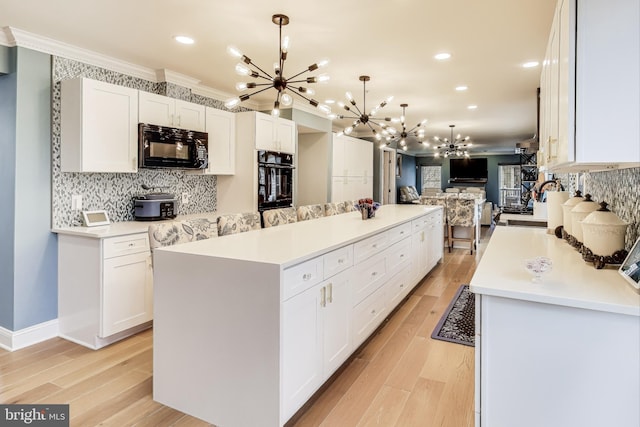
POLYGON ((607 209, 605 202, 581 221, 584 247, 594 255, 611 256, 624 249, 624 237, 628 222, 607 209))

